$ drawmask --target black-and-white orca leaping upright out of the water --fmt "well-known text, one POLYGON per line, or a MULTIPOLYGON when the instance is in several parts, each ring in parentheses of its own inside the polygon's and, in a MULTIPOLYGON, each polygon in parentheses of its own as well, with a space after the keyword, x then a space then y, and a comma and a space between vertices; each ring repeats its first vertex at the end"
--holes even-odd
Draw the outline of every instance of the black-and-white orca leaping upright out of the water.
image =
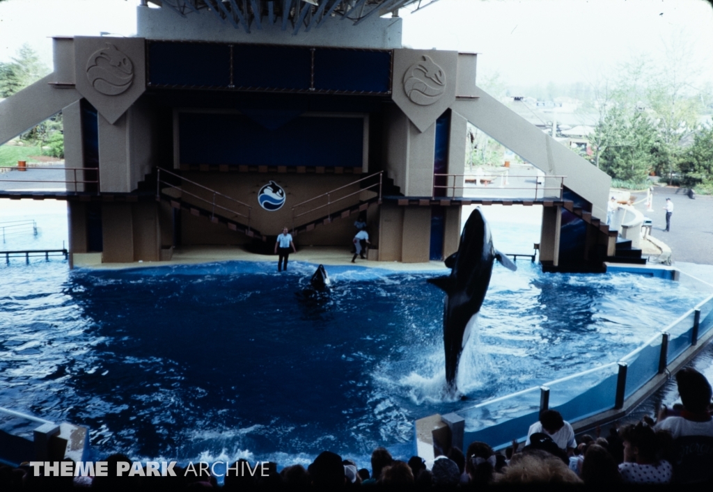
POLYGON ((451 275, 428 282, 446 292, 443 309, 443 347, 446 350, 446 391, 456 393, 456 375, 461 352, 468 341, 471 318, 478 314, 490 284, 493 262, 498 260, 510 270, 518 267, 493 247, 488 222, 479 208, 471 212, 461 233, 458 251, 446 258, 451 275))

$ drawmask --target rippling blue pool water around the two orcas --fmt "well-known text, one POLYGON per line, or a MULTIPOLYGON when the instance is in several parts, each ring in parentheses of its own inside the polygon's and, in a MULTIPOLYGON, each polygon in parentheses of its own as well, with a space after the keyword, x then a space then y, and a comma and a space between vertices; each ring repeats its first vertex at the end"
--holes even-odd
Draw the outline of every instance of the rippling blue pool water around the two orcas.
MULTIPOLYGON (((34 215, 44 232, 21 247, 59 247, 61 212, 34 215)), ((512 245, 522 232, 493 235, 512 245)), ((98 456, 282 466, 331 449, 366 466, 380 445, 411 456, 414 419, 613 362, 702 297, 518 267, 493 270, 461 359, 469 401, 448 401, 433 272, 327 267, 332 292, 314 297, 302 262, 278 275, 273 262, 69 272, 14 260, 0 264, 0 406, 89 426, 98 456)))

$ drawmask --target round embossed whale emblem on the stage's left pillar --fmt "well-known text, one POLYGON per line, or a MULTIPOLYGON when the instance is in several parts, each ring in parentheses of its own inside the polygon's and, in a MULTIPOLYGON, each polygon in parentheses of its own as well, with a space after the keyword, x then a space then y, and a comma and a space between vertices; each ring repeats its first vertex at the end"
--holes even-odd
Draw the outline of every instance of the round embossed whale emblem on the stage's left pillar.
POLYGON ((91 86, 105 96, 118 96, 133 82, 133 63, 111 43, 96 51, 87 61, 87 78, 91 86))

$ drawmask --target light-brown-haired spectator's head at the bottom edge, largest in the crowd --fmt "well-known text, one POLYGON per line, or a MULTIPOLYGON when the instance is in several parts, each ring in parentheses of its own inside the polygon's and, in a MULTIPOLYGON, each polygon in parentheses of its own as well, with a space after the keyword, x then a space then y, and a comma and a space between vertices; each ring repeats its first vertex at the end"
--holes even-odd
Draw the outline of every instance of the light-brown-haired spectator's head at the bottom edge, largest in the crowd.
POLYGON ((546 451, 531 449, 513 456, 497 483, 582 483, 577 473, 546 451))

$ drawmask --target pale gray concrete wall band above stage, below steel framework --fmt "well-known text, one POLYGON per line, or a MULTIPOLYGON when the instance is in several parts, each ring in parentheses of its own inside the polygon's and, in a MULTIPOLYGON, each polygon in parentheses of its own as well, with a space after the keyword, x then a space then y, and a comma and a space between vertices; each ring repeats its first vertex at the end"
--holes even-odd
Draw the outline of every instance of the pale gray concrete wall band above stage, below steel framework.
MULTIPOLYGON (((302 2, 299 6, 302 6, 302 2)), ((299 35, 294 36, 294 27, 287 23, 282 31, 282 19, 273 25, 262 22, 262 29, 255 23, 250 33, 235 28, 230 21, 220 21, 207 10, 198 14, 189 12, 185 18, 168 8, 150 9, 148 6, 136 8, 138 36, 147 39, 175 39, 196 41, 221 41, 233 43, 285 44, 292 46, 342 46, 347 48, 391 49, 401 48, 401 19, 381 19, 371 16, 359 26, 353 21, 327 19, 322 26, 312 26, 309 32, 304 26, 299 35)))

